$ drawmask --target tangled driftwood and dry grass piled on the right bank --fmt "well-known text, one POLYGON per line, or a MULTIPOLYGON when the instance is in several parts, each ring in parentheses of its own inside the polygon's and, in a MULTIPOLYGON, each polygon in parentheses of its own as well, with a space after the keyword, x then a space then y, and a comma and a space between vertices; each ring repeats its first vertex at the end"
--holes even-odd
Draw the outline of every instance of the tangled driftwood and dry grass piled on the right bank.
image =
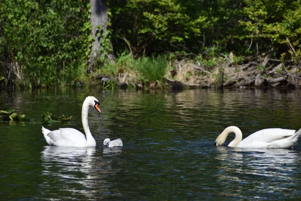
POLYGON ((187 63, 187 61, 179 61, 175 65, 177 66, 177 72, 174 73, 175 78, 172 78, 187 86, 194 84, 201 87, 217 88, 301 86, 301 70, 296 67, 300 63, 281 62, 269 59, 267 56, 253 60, 246 59, 240 62, 225 59, 224 62, 217 62, 215 66, 210 67, 201 63, 187 63), (179 76, 180 73, 191 73, 193 80, 185 76, 179 76))

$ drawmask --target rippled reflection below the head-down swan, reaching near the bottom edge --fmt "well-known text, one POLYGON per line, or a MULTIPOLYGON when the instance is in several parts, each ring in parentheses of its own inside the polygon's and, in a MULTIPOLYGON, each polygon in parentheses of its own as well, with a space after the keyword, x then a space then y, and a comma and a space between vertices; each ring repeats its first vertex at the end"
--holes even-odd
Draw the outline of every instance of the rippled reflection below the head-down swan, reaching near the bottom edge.
MULTIPOLYGON (((224 185, 243 191, 256 191, 257 198, 279 193, 293 196, 300 180, 300 152, 292 149, 249 149, 217 147, 216 160, 220 161, 218 178, 224 185), (286 192, 289 193, 286 193, 286 192)), ((221 192, 227 196, 241 196, 236 193, 221 192)), ((287 197, 286 197, 287 198, 287 197)))

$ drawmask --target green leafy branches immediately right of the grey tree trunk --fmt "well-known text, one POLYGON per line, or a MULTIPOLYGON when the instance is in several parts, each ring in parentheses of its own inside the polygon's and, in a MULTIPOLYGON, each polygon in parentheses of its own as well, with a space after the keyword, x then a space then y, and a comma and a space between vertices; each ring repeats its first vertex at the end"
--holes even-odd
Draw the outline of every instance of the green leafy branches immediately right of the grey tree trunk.
MULTIPOLYGON (((193 37, 200 37, 206 17, 187 15, 186 8, 170 0, 110 1, 114 34, 129 41, 130 53, 138 58, 154 52, 174 51, 193 37)), ((206 24, 206 23, 205 23, 206 24)), ((120 39, 117 39, 120 40, 120 39)), ((122 43, 118 43, 121 51, 122 43)))

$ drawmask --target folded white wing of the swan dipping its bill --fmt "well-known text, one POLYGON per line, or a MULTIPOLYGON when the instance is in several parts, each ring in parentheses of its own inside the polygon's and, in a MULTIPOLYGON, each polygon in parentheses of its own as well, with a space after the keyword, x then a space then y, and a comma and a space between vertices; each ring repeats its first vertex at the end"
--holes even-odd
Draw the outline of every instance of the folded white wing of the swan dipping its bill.
POLYGON ((295 130, 289 130, 289 129, 263 129, 243 139, 238 144, 238 146, 245 147, 248 144, 253 144, 253 145, 257 144, 258 147, 261 147, 260 144, 264 145, 266 143, 270 143, 275 140, 280 140, 292 136, 294 135, 295 132, 296 132, 295 130))

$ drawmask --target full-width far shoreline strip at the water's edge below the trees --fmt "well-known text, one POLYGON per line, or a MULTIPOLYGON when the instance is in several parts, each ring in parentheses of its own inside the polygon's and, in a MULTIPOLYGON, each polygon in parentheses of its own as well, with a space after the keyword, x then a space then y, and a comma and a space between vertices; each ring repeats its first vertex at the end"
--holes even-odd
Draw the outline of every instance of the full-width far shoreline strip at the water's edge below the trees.
MULTIPOLYGON (((68 88, 68 87, 90 87, 98 86, 103 90, 115 88, 137 88, 137 89, 167 89, 184 90, 189 88, 279 88, 297 89, 301 88, 301 70, 292 61, 262 59, 260 61, 231 61, 227 59, 216 60, 212 66, 195 60, 166 61, 168 66, 160 79, 147 81, 141 78, 139 72, 127 63, 116 63, 105 69, 84 75, 83 80, 74 80, 75 84, 33 86, 26 87, 6 83, 0 80, 0 91, 22 90, 28 88, 68 88), (110 73, 110 71, 114 73, 110 73)), ((157 70, 155 69, 154 72, 157 70)), ((164 71, 163 71, 164 72, 164 71)))

